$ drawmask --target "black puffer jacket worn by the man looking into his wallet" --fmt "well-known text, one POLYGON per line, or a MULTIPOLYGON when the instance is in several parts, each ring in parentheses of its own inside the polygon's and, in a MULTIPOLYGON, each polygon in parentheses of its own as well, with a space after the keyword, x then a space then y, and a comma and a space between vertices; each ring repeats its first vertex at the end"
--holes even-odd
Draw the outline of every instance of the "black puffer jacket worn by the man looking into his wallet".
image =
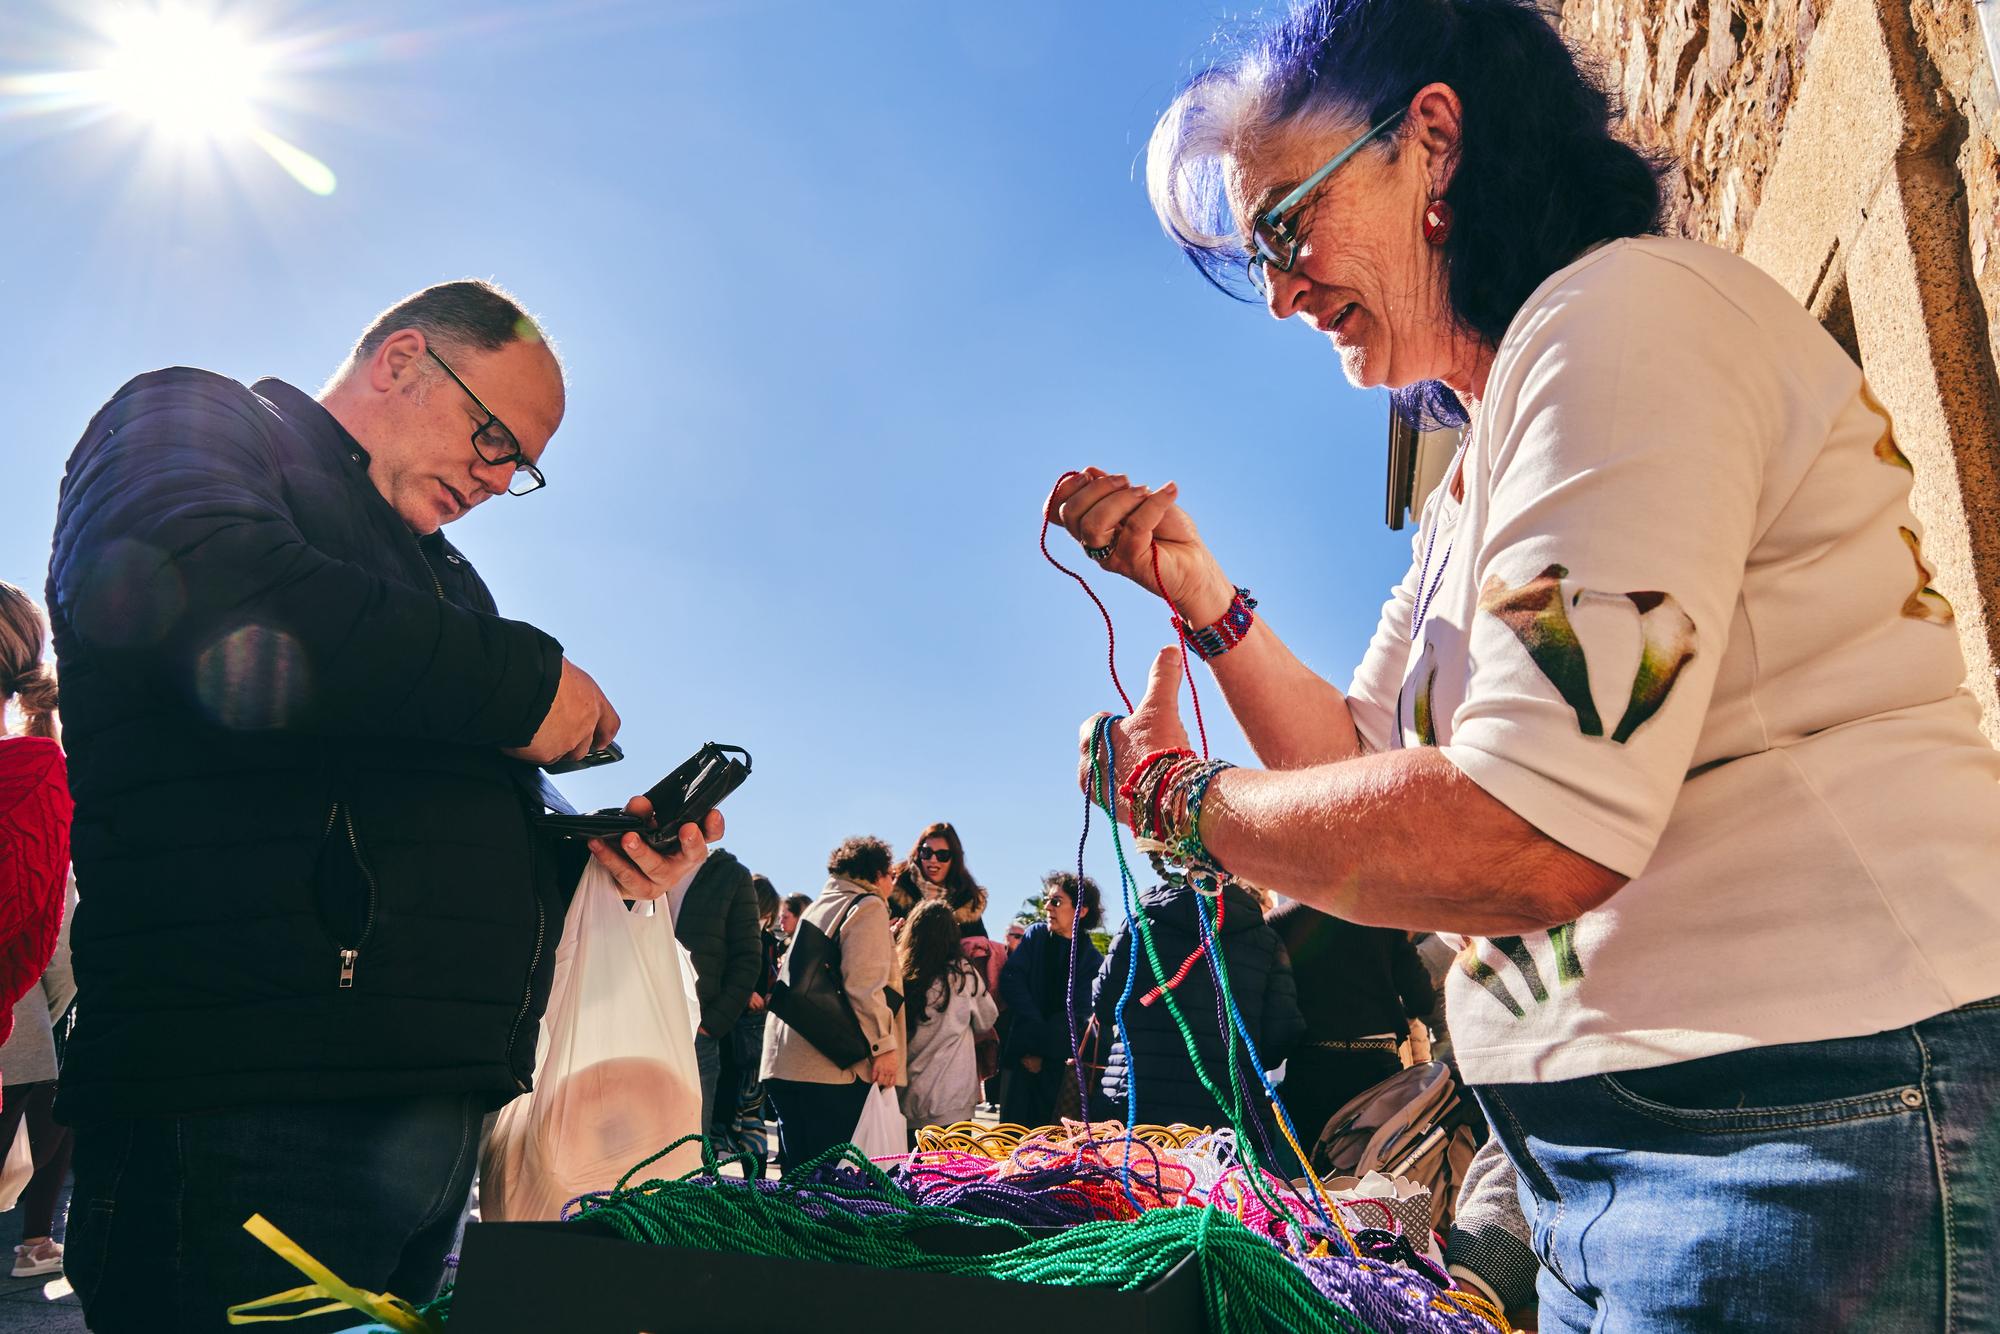
POLYGON ((528 1086, 564 886, 562 646, 416 538, 296 388, 126 384, 62 482, 70 1122, 528 1086))

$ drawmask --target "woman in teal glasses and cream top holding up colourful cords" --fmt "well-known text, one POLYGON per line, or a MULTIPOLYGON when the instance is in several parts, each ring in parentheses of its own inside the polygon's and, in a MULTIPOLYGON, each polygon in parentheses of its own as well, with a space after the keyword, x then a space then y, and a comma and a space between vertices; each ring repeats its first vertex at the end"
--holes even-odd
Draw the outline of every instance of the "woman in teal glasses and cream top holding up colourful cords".
MULTIPOLYGON (((1262 764, 1190 760, 1168 650, 1110 728, 1122 814, 1462 942, 1452 1040, 1544 1330, 1976 1324, 2000 754, 1860 368, 1752 264, 1660 236, 1610 124, 1530 0, 1312 0, 1174 98, 1168 236, 1464 440, 1346 692, 1172 484, 1058 488, 1262 764)), ((1310 432, 1320 392, 1260 382, 1246 436, 1310 432)))

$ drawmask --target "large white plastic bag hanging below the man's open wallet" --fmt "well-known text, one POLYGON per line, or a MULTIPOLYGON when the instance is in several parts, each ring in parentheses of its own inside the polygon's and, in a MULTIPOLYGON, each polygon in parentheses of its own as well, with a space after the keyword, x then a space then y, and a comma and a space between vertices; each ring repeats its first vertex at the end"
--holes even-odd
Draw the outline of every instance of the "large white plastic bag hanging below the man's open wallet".
MULTIPOLYGON (((560 1218, 590 1190, 702 1128, 694 1062, 694 966, 666 900, 626 908, 596 862, 584 870, 556 946, 534 1092, 500 1110, 480 1154, 480 1218, 560 1218)), ((700 1166, 686 1144, 646 1170, 700 1166)))

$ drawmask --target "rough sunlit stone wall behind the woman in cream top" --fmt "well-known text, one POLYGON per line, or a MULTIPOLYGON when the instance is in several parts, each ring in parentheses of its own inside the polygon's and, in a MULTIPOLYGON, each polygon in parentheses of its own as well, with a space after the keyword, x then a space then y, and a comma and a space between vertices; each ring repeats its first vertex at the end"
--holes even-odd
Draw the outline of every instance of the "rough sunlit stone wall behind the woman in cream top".
POLYGON ((1678 164, 1672 226, 1768 268, 1916 464, 2000 742, 2000 94, 1972 0, 1548 0, 1678 164))

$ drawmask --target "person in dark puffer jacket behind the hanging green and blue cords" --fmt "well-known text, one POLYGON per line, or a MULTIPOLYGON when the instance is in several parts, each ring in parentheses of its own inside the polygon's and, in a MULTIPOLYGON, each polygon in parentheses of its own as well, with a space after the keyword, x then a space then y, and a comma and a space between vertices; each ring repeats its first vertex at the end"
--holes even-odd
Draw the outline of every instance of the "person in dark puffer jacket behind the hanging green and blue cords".
MULTIPOLYGON (((1160 954, 1160 966, 1168 976, 1180 968, 1200 944, 1200 930, 1194 920, 1194 890, 1186 884, 1156 884, 1140 892, 1140 912, 1152 928, 1152 942, 1160 954)), ((1284 952, 1284 942, 1264 924, 1264 912, 1242 886, 1230 884, 1222 892, 1222 962, 1228 968, 1230 992, 1244 1024, 1256 1038, 1256 1054, 1266 1070, 1276 1070, 1298 1038, 1306 1032, 1306 1018, 1298 1010, 1298 988, 1292 982, 1292 960, 1284 952)), ((1110 1114, 1126 1116, 1126 1078, 1136 1066, 1138 1074, 1138 1124, 1170 1126, 1226 1126, 1228 1108, 1220 1106, 1194 1072, 1188 1046, 1174 1024, 1164 1000, 1150 1006, 1140 1000, 1152 992, 1160 980, 1146 960, 1144 946, 1134 938, 1132 922, 1118 930, 1112 952, 1098 972, 1092 996, 1092 1012, 1098 1032, 1110 1056, 1104 1064, 1102 1090, 1110 1100, 1110 1114), (1126 972, 1138 952, 1138 978, 1132 996, 1124 1006, 1126 1036, 1132 1048, 1126 1050, 1118 1038, 1114 1014, 1118 996, 1124 992, 1126 972)), ((1208 960, 1202 958, 1188 970, 1188 976, 1174 988, 1174 1002, 1180 1006, 1188 1028, 1194 1030, 1194 1044, 1202 1054, 1202 1066, 1216 1080, 1216 1088, 1228 1094, 1228 1056, 1222 1026, 1216 1018, 1216 984, 1208 960)), ((1256 1108, 1264 1130, 1272 1132, 1268 1100, 1264 1088, 1250 1068, 1242 1040, 1234 1038, 1236 1054, 1242 1062, 1242 1078, 1250 1106, 1256 1108)), ((1256 1128, 1236 1126, 1244 1136, 1254 1136, 1256 1128)), ((1258 1140, 1262 1146, 1262 1140, 1258 1140)), ((1284 1168, 1280 1168, 1284 1170, 1284 1168)))

